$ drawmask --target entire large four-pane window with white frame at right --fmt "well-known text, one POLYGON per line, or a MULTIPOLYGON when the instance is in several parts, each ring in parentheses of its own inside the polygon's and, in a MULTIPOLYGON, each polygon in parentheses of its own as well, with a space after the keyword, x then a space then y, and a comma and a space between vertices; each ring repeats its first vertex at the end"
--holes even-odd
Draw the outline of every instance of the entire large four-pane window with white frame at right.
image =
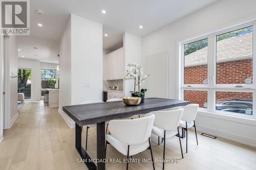
POLYGON ((181 99, 199 104, 201 110, 256 118, 254 25, 181 43, 181 99))

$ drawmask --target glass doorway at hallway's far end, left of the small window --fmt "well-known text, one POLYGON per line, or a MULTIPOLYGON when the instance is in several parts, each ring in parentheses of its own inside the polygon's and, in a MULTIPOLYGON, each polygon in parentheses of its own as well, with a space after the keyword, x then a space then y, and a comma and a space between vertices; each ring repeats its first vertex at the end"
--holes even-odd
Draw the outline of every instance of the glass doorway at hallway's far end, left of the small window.
POLYGON ((31 69, 18 68, 18 93, 24 93, 25 99, 31 99, 31 69))

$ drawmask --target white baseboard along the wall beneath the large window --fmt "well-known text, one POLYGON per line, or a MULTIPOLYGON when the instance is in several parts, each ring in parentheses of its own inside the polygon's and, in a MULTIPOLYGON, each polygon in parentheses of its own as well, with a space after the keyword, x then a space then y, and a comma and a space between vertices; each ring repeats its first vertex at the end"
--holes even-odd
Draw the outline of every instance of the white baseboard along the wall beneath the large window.
POLYGON ((224 139, 228 139, 228 140, 232 140, 232 141, 239 142, 239 143, 242 143, 242 144, 246 144, 246 145, 249 145, 251 147, 256 147, 256 140, 244 138, 244 137, 229 134, 229 133, 226 133, 226 132, 217 131, 217 130, 214 130, 214 129, 209 129, 209 128, 202 127, 202 126, 199 126, 199 125, 197 125, 197 130, 201 131, 201 132, 205 132, 205 133, 210 134, 210 135, 214 135, 214 136, 221 137, 221 138, 224 138, 224 139))

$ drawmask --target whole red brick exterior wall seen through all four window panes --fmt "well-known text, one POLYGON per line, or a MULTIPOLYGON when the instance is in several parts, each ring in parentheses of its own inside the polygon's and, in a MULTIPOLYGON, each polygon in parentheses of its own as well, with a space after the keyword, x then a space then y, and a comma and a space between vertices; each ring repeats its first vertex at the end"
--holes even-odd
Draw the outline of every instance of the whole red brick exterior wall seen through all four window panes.
MULTIPOLYGON (((247 77, 252 83, 252 59, 217 63, 217 84, 245 84, 247 77)), ((184 84, 203 84, 207 79, 207 65, 189 66, 184 69, 184 84)), ((231 99, 252 99, 251 92, 217 91, 216 102, 231 99)), ((203 108, 207 102, 207 91, 184 90, 184 100, 197 103, 203 108)))

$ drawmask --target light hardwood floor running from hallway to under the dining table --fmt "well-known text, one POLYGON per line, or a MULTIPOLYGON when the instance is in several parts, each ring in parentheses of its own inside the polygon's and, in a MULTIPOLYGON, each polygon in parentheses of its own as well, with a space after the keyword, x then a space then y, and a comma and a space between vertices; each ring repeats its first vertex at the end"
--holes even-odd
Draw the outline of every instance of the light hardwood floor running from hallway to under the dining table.
MULTIPOLYGON (((96 129, 89 129, 88 150, 96 158, 96 129)), ((86 131, 83 130, 83 147, 86 131)), ((26 102, 11 129, 4 131, 0 143, 0 169, 87 169, 76 163, 80 156, 74 147, 74 129, 69 129, 57 109, 45 107, 42 101, 26 102)), ((188 153, 181 158, 179 139, 166 140, 166 158, 180 163, 166 163, 165 169, 256 169, 256 149, 226 139, 211 139, 200 135, 196 145, 194 131, 188 132, 188 153)), ((152 136, 155 159, 162 158, 163 144, 152 136)), ((182 139, 185 151, 185 139, 182 139)), ((106 158, 125 158, 108 145, 106 158)), ((133 158, 151 158, 150 150, 133 158)), ((162 164, 157 163, 156 169, 162 164)), ((125 169, 125 163, 107 163, 106 169, 125 169)), ((129 169, 153 169, 151 163, 130 163, 129 169)))

